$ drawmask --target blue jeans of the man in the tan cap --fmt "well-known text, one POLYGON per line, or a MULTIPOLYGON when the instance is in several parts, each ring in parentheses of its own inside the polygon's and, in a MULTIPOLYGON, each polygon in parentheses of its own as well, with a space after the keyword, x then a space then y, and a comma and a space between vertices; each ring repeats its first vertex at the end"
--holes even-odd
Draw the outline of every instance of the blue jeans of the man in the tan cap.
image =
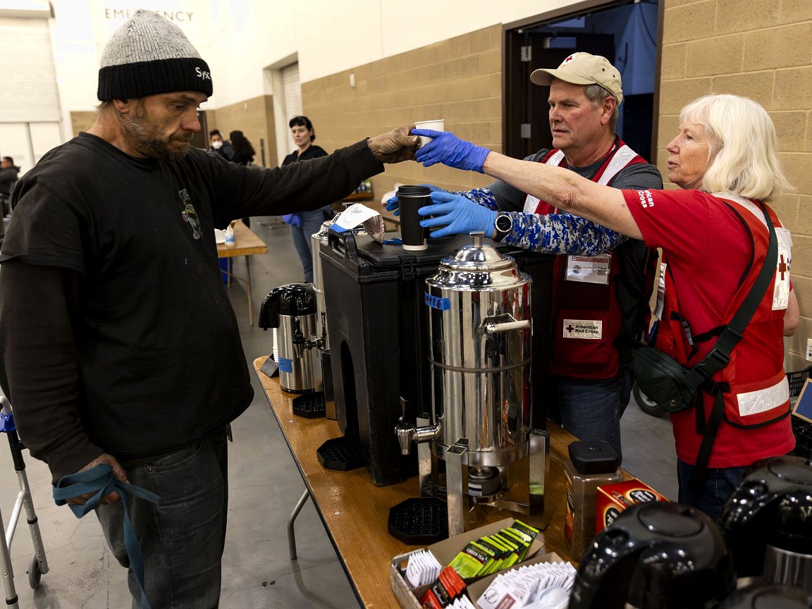
POLYGON ((551 375, 547 417, 581 440, 605 440, 623 460, 620 417, 631 392, 628 368, 606 380, 551 375))

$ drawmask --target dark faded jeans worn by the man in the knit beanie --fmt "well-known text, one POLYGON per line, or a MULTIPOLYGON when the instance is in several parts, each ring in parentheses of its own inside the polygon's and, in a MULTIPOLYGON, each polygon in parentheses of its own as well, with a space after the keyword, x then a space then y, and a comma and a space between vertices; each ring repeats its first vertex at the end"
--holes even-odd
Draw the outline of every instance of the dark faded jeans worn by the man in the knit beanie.
MULTIPOLYGON (((225 428, 148 464, 123 465, 132 484, 161 498, 157 506, 136 497, 129 504, 132 526, 144 553, 150 607, 218 607, 228 503, 225 428)), ((123 513, 121 502, 102 505, 96 511, 110 550, 119 563, 129 567, 123 513)), ((138 609, 141 591, 132 568, 127 581, 132 607, 138 609)))

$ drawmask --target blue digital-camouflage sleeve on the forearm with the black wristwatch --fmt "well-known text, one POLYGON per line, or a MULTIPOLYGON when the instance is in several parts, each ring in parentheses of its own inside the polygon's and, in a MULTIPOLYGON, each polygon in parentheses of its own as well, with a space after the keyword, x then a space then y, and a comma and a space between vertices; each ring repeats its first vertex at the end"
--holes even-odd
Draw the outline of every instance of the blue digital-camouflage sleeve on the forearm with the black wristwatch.
POLYGON ((572 214, 509 214, 513 229, 504 242, 533 252, 598 256, 628 239, 572 214))

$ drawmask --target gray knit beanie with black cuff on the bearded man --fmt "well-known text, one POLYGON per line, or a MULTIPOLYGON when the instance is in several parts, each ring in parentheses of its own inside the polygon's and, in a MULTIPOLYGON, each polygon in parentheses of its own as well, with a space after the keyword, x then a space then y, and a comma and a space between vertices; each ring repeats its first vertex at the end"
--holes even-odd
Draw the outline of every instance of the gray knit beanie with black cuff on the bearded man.
POLYGON ((98 98, 106 102, 175 91, 210 97, 209 66, 177 25, 155 11, 136 11, 107 41, 98 98))

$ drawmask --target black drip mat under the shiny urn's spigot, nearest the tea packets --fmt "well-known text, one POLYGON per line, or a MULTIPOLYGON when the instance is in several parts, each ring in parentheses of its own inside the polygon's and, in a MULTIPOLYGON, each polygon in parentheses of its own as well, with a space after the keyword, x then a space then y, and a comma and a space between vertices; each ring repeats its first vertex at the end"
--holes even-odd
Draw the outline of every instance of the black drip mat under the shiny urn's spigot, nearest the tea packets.
POLYGON ((389 534, 410 546, 448 538, 448 506, 436 497, 412 497, 389 508, 389 534))

